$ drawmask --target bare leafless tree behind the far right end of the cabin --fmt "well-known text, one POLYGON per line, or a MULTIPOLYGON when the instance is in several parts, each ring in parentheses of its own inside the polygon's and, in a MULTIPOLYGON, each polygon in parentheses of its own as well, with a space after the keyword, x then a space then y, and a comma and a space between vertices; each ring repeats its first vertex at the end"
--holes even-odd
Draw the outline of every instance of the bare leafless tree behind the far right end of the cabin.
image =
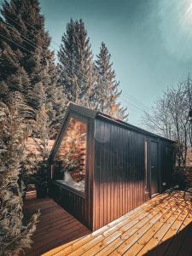
POLYGON ((191 109, 192 80, 188 78, 177 88, 168 89, 155 103, 151 112, 145 112, 143 122, 150 131, 177 142, 177 165, 185 166, 191 148, 191 109))

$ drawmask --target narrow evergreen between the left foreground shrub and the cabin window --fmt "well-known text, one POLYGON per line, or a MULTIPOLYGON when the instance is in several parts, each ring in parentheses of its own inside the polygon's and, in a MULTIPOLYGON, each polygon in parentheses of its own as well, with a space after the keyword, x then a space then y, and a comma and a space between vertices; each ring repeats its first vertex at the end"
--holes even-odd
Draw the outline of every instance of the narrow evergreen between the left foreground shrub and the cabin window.
POLYGON ((32 184, 36 185, 37 189, 40 187, 47 189, 48 187, 48 143, 50 134, 49 115, 43 105, 32 122, 31 139, 37 149, 27 154, 26 159, 22 162, 22 178, 27 187, 32 184))

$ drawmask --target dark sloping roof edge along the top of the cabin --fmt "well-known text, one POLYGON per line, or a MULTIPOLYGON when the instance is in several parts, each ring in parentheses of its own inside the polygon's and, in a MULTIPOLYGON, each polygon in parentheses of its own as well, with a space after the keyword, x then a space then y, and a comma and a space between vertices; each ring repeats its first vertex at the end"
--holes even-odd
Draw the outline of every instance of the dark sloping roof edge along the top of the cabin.
POLYGON ((82 113, 83 115, 85 115, 87 117, 90 117, 91 119, 96 119, 97 116, 98 117, 102 117, 102 119, 106 119, 106 120, 108 120, 110 122, 113 122, 113 123, 125 126, 126 128, 128 128, 130 130, 137 131, 139 133, 143 133, 146 136, 156 137, 156 138, 160 138, 160 139, 166 140, 166 141, 168 141, 170 143, 175 143, 174 141, 169 140, 166 137, 161 137, 160 135, 154 134, 153 132, 150 132, 150 131, 145 131, 142 128, 139 128, 139 127, 137 127, 135 125, 131 125, 129 123, 126 123, 126 122, 124 122, 124 121, 122 121, 120 119, 115 119, 115 118, 109 116, 106 113, 102 113, 102 112, 96 111, 94 109, 84 108, 82 106, 70 103, 69 107, 68 107, 68 110, 69 111, 73 110, 75 112, 82 113))

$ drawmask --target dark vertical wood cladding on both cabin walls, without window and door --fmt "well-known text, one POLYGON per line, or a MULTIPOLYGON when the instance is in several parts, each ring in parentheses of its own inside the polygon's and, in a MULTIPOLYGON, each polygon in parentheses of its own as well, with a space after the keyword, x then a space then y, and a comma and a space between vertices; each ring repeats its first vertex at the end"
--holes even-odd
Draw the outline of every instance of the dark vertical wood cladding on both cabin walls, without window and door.
MULTIPOLYGON (((69 114, 85 119, 88 125, 84 195, 53 181, 50 184, 55 201, 90 230, 101 228, 150 199, 153 143, 157 143, 158 151, 156 187, 161 192, 165 182, 167 189, 172 177, 172 141, 73 104, 69 114)), ((51 151, 50 165, 65 136, 67 115, 51 151)))

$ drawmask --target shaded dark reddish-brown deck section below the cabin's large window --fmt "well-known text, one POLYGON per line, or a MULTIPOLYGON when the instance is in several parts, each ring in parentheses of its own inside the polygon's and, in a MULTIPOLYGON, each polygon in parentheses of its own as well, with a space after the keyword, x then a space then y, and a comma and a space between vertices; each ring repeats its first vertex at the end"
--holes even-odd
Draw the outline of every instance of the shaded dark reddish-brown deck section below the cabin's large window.
POLYGON ((27 196, 25 203, 26 218, 40 210, 41 216, 35 234, 32 236, 32 248, 26 251, 27 256, 38 256, 69 241, 90 234, 70 213, 58 206, 49 198, 35 199, 27 196))

